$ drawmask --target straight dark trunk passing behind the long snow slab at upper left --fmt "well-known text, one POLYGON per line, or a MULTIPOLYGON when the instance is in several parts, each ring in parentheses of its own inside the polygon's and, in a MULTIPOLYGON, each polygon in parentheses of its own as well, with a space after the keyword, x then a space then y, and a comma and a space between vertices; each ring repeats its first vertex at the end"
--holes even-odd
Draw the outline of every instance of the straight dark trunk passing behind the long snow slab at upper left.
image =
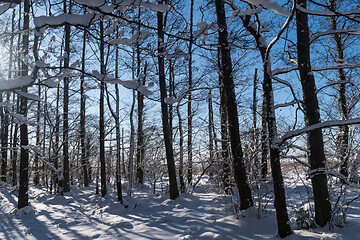
MULTIPOLYGON (((64 1, 64 12, 71 13, 71 0, 69 9, 67 1, 64 1)), ((65 24, 65 58, 64 69, 68 69, 70 63, 70 25, 65 24)), ((63 106, 63 179, 61 181, 61 194, 70 192, 70 169, 69 169, 69 83, 68 77, 64 78, 64 106, 63 106)))

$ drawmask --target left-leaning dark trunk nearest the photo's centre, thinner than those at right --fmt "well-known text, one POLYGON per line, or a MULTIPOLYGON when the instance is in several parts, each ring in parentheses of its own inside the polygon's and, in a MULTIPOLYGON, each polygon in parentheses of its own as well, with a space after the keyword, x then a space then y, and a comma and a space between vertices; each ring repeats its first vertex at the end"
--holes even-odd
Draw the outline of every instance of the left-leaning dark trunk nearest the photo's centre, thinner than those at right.
MULTIPOLYGON (((159 1, 159 4, 163 1, 159 1)), ((162 124, 164 133, 164 142, 166 150, 166 161, 168 167, 169 181, 170 181, 170 199, 176 199, 179 196, 176 181, 176 170, 174 153, 171 142, 171 134, 169 129, 168 119, 168 107, 165 103, 167 97, 166 82, 165 82, 165 63, 164 63, 164 29, 163 29, 163 13, 157 12, 157 25, 158 25, 158 64, 159 64, 159 83, 160 83, 160 95, 161 95, 161 113, 162 113, 162 124)))

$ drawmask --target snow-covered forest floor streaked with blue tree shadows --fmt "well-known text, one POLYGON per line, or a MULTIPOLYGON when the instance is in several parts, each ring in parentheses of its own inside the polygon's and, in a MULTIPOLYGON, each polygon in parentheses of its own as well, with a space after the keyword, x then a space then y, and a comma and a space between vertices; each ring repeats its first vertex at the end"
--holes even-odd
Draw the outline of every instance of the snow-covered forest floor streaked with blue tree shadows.
MULTIPOLYGON (((291 218, 297 206, 307 201, 309 191, 301 180, 295 180, 286 178, 291 218)), ((32 187, 31 206, 17 210, 16 190, 2 186, 0 239, 280 239, 276 237, 270 186, 271 183, 262 184, 263 192, 266 188, 270 191, 260 200, 261 210, 254 207, 238 217, 233 214, 230 197, 211 188, 206 177, 193 195, 183 194, 175 201, 168 200, 166 195, 149 195, 150 189, 146 187, 136 189, 132 198, 125 197, 127 207, 116 203, 113 191, 105 198, 95 195, 94 186, 72 187, 65 196, 50 195, 44 188, 32 187)), ((333 185, 332 189, 335 202, 340 187, 333 185)), ((347 200, 359 194, 358 189, 348 190, 347 200)), ((291 224, 296 229, 295 222, 291 224)), ((355 200, 350 204, 342 227, 294 232, 286 239, 359 239, 360 202, 355 200)))

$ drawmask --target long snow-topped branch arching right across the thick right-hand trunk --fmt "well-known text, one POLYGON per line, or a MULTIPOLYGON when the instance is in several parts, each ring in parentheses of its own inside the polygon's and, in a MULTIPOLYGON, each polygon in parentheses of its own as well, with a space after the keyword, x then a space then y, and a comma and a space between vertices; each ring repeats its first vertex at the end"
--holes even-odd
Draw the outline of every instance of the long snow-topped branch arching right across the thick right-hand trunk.
POLYGON ((277 139, 274 144, 280 146, 286 140, 288 140, 290 138, 302 135, 304 133, 308 133, 308 132, 316 130, 316 129, 323 129, 323 128, 329 128, 329 127, 340 127, 340 126, 344 126, 344 125, 354 125, 354 124, 360 124, 360 118, 321 122, 321 123, 313 124, 311 126, 307 126, 307 127, 295 130, 295 131, 289 131, 289 132, 285 133, 281 138, 277 139))

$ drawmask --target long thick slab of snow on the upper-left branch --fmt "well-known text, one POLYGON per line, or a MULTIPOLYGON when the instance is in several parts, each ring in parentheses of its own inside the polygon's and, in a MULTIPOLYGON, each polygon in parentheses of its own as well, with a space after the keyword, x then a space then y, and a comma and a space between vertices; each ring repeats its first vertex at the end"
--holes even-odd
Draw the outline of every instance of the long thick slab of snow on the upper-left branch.
POLYGON ((93 13, 83 15, 63 13, 58 16, 40 16, 34 18, 34 25, 36 28, 59 27, 66 23, 75 26, 89 26, 94 17, 95 14, 93 13))

